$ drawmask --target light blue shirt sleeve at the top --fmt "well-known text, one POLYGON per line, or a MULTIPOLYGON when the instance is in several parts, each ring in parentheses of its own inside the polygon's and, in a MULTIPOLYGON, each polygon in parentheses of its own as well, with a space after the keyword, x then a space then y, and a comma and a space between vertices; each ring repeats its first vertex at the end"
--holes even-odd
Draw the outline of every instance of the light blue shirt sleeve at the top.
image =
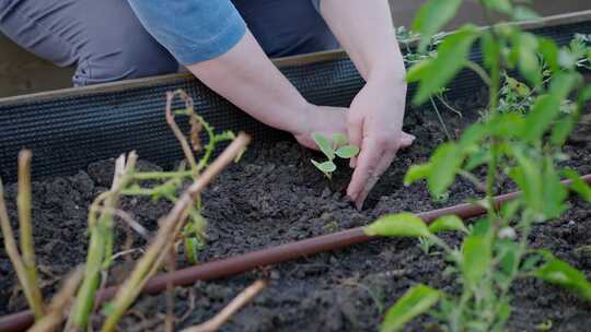
POLYGON ((128 1, 146 29, 185 66, 223 55, 246 32, 230 0, 128 1))

